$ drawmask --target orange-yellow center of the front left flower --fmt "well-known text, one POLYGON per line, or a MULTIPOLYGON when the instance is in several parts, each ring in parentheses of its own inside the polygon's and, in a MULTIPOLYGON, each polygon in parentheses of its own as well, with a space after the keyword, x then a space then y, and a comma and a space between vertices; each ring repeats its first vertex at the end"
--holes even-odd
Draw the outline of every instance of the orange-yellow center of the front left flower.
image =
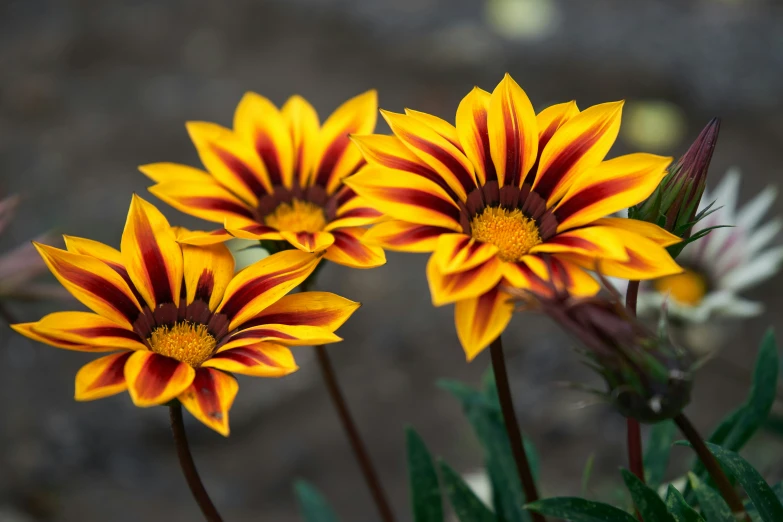
POLYGON ((147 342, 152 351, 188 363, 196 368, 210 358, 217 341, 206 325, 183 321, 174 326, 159 326, 147 342))

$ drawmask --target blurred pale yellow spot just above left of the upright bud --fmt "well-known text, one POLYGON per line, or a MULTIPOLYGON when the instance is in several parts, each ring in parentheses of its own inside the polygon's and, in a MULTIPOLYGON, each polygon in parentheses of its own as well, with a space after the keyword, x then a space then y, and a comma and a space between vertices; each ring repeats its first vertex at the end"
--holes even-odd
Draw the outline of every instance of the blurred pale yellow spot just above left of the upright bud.
POLYGON ((664 100, 629 101, 621 132, 636 147, 669 150, 683 139, 685 115, 680 107, 664 100))

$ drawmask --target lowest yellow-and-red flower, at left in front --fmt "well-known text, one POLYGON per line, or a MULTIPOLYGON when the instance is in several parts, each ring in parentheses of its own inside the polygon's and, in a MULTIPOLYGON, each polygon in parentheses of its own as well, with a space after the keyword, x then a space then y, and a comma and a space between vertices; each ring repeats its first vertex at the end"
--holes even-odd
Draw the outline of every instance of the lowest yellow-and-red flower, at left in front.
POLYGON ((233 373, 280 377, 297 369, 286 346, 339 341, 358 303, 334 294, 286 295, 317 256, 288 250, 234 274, 223 244, 180 246, 166 218, 134 196, 120 250, 66 237, 36 244, 52 273, 94 313, 57 312, 14 329, 58 348, 117 352, 76 374, 76 400, 128 390, 136 406, 178 399, 228 435, 233 373), (229 373, 230 372, 230 373, 229 373))

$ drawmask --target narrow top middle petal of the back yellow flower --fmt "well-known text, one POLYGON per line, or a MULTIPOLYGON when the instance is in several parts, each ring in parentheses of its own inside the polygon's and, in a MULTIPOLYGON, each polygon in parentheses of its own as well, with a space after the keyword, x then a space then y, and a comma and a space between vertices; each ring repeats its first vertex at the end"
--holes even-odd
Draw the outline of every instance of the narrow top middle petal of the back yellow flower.
POLYGON ((281 111, 288 122, 294 146, 294 175, 300 187, 306 187, 315 167, 320 122, 313 106, 301 96, 291 96, 281 111))

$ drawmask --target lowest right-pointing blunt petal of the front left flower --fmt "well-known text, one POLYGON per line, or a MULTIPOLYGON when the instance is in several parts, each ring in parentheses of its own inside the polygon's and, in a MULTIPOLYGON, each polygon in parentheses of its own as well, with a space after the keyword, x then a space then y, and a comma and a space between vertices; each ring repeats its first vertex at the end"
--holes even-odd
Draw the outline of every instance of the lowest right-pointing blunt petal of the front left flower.
POLYGON ((201 366, 254 377, 283 377, 299 369, 291 350, 273 343, 226 350, 215 354, 201 366))

